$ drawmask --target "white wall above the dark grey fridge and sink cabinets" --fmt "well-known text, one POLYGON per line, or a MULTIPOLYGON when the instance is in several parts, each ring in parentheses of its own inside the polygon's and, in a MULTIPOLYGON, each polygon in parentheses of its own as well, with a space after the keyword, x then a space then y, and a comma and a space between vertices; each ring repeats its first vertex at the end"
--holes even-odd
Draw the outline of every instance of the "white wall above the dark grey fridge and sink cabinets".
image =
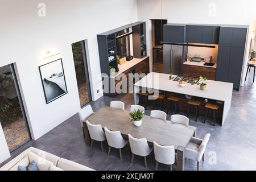
MULTIPOLYGON (((151 35, 150 19, 167 19, 168 23, 250 25, 244 59, 246 62, 251 26, 256 20, 255 7, 255 0, 138 0, 138 20, 147 22, 147 35, 151 35)), ((151 37, 148 37, 147 44, 151 44, 151 37)), ((147 51, 152 61, 152 48, 148 46, 147 51)), ((242 76, 245 74, 244 69, 242 76)))

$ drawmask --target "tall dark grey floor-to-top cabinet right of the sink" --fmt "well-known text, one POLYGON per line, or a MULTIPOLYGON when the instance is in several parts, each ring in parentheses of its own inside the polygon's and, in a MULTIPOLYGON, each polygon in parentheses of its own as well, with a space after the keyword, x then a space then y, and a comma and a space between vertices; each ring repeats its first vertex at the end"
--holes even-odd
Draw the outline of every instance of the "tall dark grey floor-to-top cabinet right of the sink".
POLYGON ((232 82, 239 90, 245 53, 247 26, 221 26, 216 80, 232 82))

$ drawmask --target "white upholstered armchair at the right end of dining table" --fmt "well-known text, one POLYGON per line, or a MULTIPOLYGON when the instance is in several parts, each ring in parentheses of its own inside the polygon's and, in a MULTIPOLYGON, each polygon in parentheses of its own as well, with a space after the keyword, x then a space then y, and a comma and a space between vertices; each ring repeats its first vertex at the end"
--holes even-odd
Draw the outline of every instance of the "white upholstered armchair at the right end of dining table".
POLYGON ((204 152, 209 141, 210 134, 206 134, 204 139, 192 137, 187 147, 185 148, 185 158, 197 161, 197 171, 199 171, 199 163, 203 158, 204 152))

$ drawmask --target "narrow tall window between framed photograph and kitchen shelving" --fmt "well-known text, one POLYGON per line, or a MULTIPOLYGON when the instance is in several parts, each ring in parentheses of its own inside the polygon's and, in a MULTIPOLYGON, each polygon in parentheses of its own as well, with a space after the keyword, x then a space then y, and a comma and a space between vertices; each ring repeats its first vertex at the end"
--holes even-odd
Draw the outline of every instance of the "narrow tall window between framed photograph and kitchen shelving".
POLYGON ((90 95, 89 74, 85 51, 85 41, 72 44, 73 59, 76 69, 76 80, 79 89, 81 107, 92 100, 90 95))

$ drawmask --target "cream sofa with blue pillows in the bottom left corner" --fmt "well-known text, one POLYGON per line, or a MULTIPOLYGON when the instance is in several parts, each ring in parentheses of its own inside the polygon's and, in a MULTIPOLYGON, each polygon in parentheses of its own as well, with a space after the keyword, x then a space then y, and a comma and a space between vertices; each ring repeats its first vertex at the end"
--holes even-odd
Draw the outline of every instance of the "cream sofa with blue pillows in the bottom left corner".
POLYGON ((27 167, 33 160, 36 162, 39 171, 94 171, 94 169, 34 147, 28 148, 16 158, 10 160, 0 168, 0 171, 18 171, 19 165, 27 167))

